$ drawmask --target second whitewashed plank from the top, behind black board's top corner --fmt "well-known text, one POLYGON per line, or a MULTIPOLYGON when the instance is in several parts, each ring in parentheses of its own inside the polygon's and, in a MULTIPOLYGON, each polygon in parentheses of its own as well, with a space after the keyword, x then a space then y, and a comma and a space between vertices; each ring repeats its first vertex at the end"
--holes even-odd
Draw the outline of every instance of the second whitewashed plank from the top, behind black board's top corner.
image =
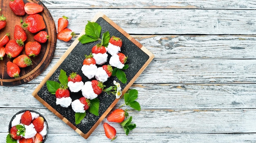
POLYGON ((63 13, 70 17, 68 27, 76 33, 84 30, 87 21, 101 11, 130 35, 256 35, 256 11, 248 10, 73 9, 72 13, 70 9, 49 11, 55 22, 63 13))

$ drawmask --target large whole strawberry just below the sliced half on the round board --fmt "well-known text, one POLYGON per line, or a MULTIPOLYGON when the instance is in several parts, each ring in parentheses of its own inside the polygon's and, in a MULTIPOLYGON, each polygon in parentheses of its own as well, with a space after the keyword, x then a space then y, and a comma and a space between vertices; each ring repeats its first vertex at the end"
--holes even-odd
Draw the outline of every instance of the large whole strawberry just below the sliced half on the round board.
POLYGON ((28 15, 22 26, 27 28, 31 33, 36 33, 46 28, 43 16, 40 14, 28 15))

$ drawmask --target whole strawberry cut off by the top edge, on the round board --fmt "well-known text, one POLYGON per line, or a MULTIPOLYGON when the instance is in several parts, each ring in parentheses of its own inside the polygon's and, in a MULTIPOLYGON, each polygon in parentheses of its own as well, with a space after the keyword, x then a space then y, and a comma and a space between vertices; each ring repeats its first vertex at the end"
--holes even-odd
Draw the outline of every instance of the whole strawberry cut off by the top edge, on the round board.
POLYGON ((24 10, 25 3, 23 0, 10 0, 9 7, 13 11, 13 13, 17 16, 25 15, 24 10))

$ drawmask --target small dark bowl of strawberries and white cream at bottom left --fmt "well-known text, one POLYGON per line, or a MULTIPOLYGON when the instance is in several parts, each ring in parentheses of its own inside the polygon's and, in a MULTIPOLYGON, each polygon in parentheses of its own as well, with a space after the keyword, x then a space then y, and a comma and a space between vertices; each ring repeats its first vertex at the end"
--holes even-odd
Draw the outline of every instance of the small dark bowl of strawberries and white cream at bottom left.
POLYGON ((44 143, 48 135, 45 117, 33 110, 22 110, 9 123, 7 143, 44 143))

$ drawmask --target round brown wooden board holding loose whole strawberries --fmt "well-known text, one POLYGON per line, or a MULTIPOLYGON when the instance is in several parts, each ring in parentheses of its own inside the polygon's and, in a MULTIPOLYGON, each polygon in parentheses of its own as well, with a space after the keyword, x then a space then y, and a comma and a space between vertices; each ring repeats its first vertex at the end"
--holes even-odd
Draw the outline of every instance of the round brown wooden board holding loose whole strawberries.
MULTIPOLYGON (((2 38, 6 33, 10 33, 9 39, 14 39, 13 33, 14 33, 14 26, 20 25, 20 19, 25 22, 27 14, 24 16, 16 16, 9 7, 9 1, 10 0, 1 0, 0 1, 0 15, 4 15, 7 20, 7 26, 0 30, 0 38, 2 38)), ((43 16, 43 19, 45 21, 46 28, 44 29, 47 31, 49 35, 49 39, 46 43, 41 44, 41 52, 36 57, 31 57, 32 64, 29 67, 21 68, 20 69, 20 77, 19 78, 11 78, 7 74, 6 69, 6 63, 8 61, 12 61, 13 58, 8 58, 6 55, 4 56, 3 61, 0 60, 0 85, 1 86, 16 86, 16 85, 22 85, 25 84, 32 79, 34 79, 36 76, 41 74, 43 70, 49 65, 49 63, 52 61, 52 58, 54 56, 54 51, 56 47, 56 26, 54 23, 54 20, 52 18, 52 15, 49 13, 48 9, 44 6, 42 2, 39 0, 24 0, 25 3, 27 2, 34 2, 37 4, 40 4, 43 6, 43 11, 39 13, 43 16)), ((27 43, 28 41, 34 41, 34 35, 30 33, 27 28, 23 28, 27 33, 27 40, 24 42, 27 43)), ((25 54, 25 48, 23 49, 21 54, 25 54)))

